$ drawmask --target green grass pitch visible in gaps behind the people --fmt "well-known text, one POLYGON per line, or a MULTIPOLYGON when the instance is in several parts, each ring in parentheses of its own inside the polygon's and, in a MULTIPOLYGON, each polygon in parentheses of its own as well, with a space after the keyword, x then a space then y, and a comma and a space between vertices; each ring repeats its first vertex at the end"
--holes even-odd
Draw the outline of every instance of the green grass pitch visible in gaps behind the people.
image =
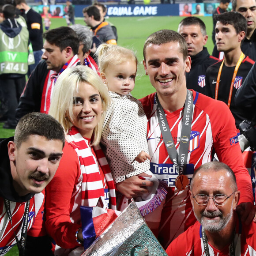
MULTIPOLYGON (((211 41, 212 17, 200 17, 206 25, 209 39, 206 47, 211 54, 213 43, 211 41)), ((109 22, 117 27, 118 45, 133 49, 139 60, 138 72, 136 77, 135 89, 132 95, 136 98, 142 98, 152 92, 154 88, 151 86, 148 77, 144 74, 143 69, 143 45, 147 37, 153 32, 161 29, 177 30, 178 24, 182 17, 165 16, 165 17, 113 17, 109 18, 109 22)), ((66 26, 65 19, 51 19, 51 29, 66 26)), ((76 19, 76 23, 85 24, 83 19, 76 19)), ((2 128, 0 123, 0 137, 7 138, 14 135, 14 130, 6 130, 2 128)), ((6 254, 7 256, 19 255, 17 248, 13 248, 6 254)), ((36 255, 36 253, 35 253, 36 255)))

